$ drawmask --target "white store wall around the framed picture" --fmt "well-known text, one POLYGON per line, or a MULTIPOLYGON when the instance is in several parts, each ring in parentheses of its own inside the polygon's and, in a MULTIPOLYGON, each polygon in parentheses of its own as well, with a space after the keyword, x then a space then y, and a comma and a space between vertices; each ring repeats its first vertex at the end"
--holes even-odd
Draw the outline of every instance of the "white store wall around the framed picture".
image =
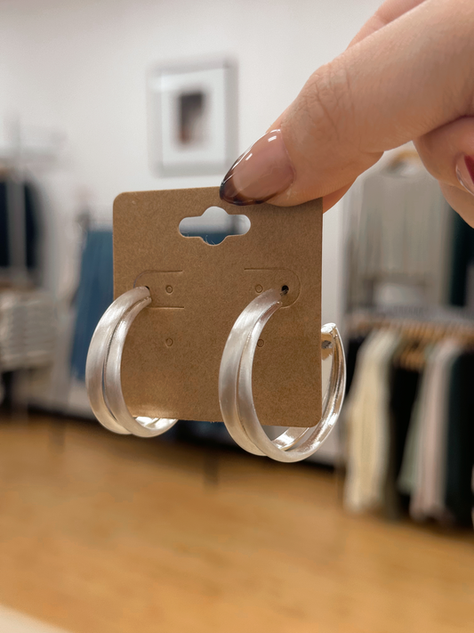
MULTIPOLYGON (((217 185, 223 174, 158 178, 147 151, 146 76, 154 64, 227 54, 239 67, 239 148, 263 134, 309 74, 331 60, 378 0, 0 0, 0 118, 54 126, 67 154, 44 175, 49 280, 67 270, 84 191, 217 185)), ((276 210, 277 213, 277 210, 276 210)), ((325 216, 323 319, 339 321, 341 210, 325 216)))

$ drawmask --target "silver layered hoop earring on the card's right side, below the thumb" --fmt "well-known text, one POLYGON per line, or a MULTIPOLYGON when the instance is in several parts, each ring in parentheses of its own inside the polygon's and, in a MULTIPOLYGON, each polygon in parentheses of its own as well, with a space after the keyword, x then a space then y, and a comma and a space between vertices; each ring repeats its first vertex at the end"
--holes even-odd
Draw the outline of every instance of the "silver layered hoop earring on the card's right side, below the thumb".
POLYGON ((346 364, 339 331, 333 323, 321 333, 330 345, 333 366, 317 426, 290 427, 277 439, 265 434, 253 404, 253 356, 261 330, 282 306, 281 294, 267 290, 247 305, 230 331, 222 353, 219 373, 219 402, 225 425, 235 442, 254 455, 267 455, 282 462, 306 459, 319 449, 341 412, 346 384, 346 364))

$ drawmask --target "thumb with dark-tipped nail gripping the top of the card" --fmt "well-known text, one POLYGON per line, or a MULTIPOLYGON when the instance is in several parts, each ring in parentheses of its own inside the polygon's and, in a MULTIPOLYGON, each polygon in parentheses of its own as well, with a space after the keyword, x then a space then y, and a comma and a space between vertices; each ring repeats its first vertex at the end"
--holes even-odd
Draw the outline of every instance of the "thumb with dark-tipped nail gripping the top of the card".
POLYGON ((237 159, 221 198, 327 209, 385 150, 474 114, 473 34, 470 0, 427 0, 349 47, 237 159))

